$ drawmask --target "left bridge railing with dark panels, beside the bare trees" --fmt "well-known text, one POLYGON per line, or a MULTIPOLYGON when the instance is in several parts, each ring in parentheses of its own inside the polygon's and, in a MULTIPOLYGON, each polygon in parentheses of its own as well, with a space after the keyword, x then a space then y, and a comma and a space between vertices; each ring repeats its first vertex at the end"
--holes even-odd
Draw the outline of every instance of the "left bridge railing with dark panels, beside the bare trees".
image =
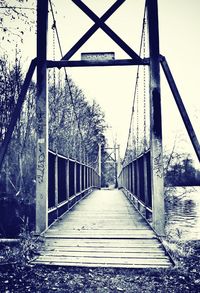
POLYGON ((91 166, 49 150, 48 224, 99 188, 99 175, 91 166))

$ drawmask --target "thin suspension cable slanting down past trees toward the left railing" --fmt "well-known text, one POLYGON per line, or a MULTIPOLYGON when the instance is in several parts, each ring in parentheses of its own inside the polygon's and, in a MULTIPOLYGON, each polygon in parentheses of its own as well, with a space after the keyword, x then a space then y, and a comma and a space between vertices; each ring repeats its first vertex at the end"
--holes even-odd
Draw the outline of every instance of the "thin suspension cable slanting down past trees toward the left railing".
MULTIPOLYGON (((55 32, 56 32, 56 37, 57 37, 57 41, 58 41, 60 55, 61 55, 61 58, 63 58, 62 46, 61 46, 60 37, 59 37, 59 34, 58 34, 55 14, 54 14, 54 11, 53 11, 53 5, 52 5, 51 0, 49 0, 49 4, 50 4, 50 8, 51 8, 51 14, 52 14, 52 18, 53 18, 53 26, 54 26, 55 32)), ((85 143, 84 143, 84 140, 83 140, 83 135, 82 135, 82 131, 81 131, 81 128, 80 128, 80 123, 79 123, 78 116, 77 116, 77 113, 76 113, 75 103, 74 103, 74 99, 73 99, 73 95, 72 95, 72 89, 71 89, 69 77, 68 77, 68 74, 67 74, 67 70, 66 70, 65 67, 64 67, 64 72, 65 72, 65 80, 66 80, 66 82, 68 84, 68 88, 69 88, 69 95, 70 95, 70 100, 71 100, 71 103, 72 103, 72 108, 73 108, 75 120, 76 120, 76 123, 77 123, 77 126, 78 126, 78 130, 79 130, 79 133, 80 133, 80 137, 81 137, 81 141, 82 141, 82 144, 83 144, 84 151, 86 152, 86 146, 85 146, 85 143)))

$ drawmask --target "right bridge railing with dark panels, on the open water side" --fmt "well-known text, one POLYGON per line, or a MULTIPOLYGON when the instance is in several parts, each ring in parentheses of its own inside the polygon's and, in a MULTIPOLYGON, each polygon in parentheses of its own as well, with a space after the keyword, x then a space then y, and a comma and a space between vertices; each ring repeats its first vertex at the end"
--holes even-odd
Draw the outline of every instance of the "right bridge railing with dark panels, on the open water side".
POLYGON ((123 166, 118 186, 149 222, 152 220, 150 151, 123 166))

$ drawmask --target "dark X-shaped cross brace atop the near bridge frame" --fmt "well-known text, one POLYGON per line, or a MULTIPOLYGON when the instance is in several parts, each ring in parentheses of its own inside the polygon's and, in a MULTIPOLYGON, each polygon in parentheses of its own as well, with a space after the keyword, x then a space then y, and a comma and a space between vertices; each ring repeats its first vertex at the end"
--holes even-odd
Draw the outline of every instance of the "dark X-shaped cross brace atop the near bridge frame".
POLYGON ((88 17, 94 21, 94 25, 82 36, 82 38, 69 50, 62 60, 69 60, 80 47, 101 28, 114 42, 118 44, 133 60, 142 62, 142 59, 106 24, 105 21, 121 6, 125 0, 117 0, 102 17, 98 17, 81 0, 72 0, 88 17))

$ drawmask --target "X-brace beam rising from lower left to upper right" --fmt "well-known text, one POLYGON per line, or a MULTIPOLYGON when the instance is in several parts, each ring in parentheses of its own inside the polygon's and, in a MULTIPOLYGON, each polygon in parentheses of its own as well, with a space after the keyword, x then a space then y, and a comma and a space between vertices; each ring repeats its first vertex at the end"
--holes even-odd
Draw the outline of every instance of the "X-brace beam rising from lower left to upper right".
MULTIPOLYGON (((117 0, 100 18, 102 22, 105 22, 121 5, 125 0, 117 0)), ((99 29, 99 24, 95 23, 91 28, 80 38, 80 40, 62 57, 61 60, 69 60, 86 42, 89 38, 99 29)))

